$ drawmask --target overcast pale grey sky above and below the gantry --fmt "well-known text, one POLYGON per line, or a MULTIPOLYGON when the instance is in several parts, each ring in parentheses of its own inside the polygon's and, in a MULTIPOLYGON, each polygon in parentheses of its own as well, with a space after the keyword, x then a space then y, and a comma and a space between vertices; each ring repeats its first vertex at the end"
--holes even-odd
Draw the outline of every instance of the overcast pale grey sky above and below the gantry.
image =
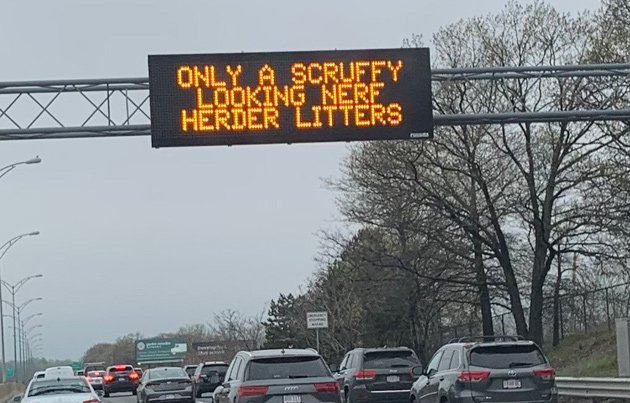
MULTIPOLYGON (((504 4, 1 0, 0 81, 144 77, 148 54, 395 48, 504 4)), ((155 150, 148 137, 1 142, 0 167, 43 159, 0 179, 0 244, 41 231, 5 256, 2 276, 45 275, 18 302, 44 297, 27 310, 44 313, 44 355, 54 358, 227 308, 260 312, 315 270, 316 233, 336 216, 321 178, 338 176, 346 153, 344 144, 155 150)))

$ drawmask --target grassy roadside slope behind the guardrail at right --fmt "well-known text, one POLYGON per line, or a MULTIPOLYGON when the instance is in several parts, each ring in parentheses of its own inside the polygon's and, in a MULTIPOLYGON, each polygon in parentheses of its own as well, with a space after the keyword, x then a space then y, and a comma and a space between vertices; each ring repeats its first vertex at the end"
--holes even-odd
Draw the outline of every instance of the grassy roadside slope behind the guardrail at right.
POLYGON ((545 345, 545 352, 558 376, 617 376, 617 344, 614 330, 575 334, 556 347, 545 345))

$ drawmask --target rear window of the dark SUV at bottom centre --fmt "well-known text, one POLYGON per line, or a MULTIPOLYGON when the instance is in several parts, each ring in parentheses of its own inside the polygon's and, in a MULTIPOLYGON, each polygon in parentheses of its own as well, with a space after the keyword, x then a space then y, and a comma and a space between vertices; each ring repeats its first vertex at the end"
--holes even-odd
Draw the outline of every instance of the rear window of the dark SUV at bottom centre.
POLYGON ((330 376, 324 361, 318 357, 261 358, 249 363, 247 380, 299 379, 330 376))

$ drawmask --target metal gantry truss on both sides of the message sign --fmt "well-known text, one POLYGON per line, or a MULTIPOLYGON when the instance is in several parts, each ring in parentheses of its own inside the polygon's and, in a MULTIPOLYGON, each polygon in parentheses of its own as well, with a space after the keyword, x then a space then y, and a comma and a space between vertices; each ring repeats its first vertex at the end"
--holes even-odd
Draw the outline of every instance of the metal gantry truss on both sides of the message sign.
MULTIPOLYGON (((434 88, 480 80, 551 80, 556 84, 593 80, 604 87, 603 94, 608 84, 630 92, 630 64, 432 70, 434 88)), ((619 99, 618 90, 614 95, 619 99)), ((630 105, 601 102, 579 110, 434 113, 436 126, 578 121, 620 121, 630 125, 630 105)), ((147 78, 0 82, 0 140, 150 133, 147 78)))

